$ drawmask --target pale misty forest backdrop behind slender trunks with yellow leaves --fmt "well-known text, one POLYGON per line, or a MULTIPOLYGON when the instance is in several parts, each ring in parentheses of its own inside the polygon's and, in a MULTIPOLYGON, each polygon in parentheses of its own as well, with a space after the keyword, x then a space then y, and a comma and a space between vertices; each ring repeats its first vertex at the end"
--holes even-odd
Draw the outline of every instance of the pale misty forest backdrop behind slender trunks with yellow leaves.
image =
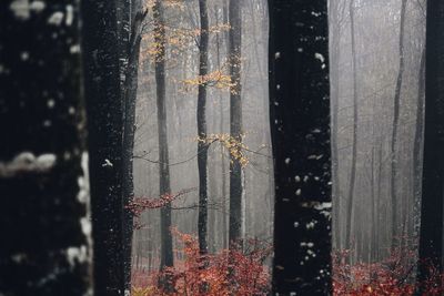
MULTIPOLYGON (((152 1, 151 1, 152 2, 152 1)), ((151 2, 147 6, 151 8, 151 2)), ((173 194, 200 185, 198 171, 198 95, 199 85, 206 85, 206 144, 208 144, 208 251, 215 253, 228 247, 230 156, 230 67, 228 60, 229 14, 228 2, 208 0, 209 49, 208 74, 199 75, 200 11, 199 1, 163 1, 165 23, 165 111, 169 144, 169 171, 173 194), (224 9, 226 7, 226 9, 224 9), (219 39, 219 40, 218 40, 219 39), (223 155, 223 157, 221 156, 223 155)), ((268 9, 266 1, 252 0, 243 6, 243 57, 241 80, 243 85, 242 115, 244 137, 240 151, 244 178, 241 226, 252 239, 271 243, 273 185, 268 98, 268 9), (254 33, 253 33, 254 32, 254 33), (253 39, 252 35, 255 35, 253 39), (258 54, 258 57, 255 55, 258 54), (259 64, 261 62, 261 64, 259 64)), ((150 16, 150 14, 149 14, 150 16)), ((157 121, 154 22, 144 23, 141 42, 138 104, 134 142, 135 197, 159 198, 159 136, 157 121)), ((239 143, 239 142, 238 142, 239 143)), ((239 143, 240 144, 240 143, 239 143)), ((173 228, 181 233, 199 234, 199 191, 191 191, 171 204, 173 228)), ((157 271, 160 258, 160 221, 152 210, 143 213, 140 228, 134 231, 133 264, 139 272, 157 271)), ((173 236, 174 263, 182 262, 173 236)), ((268 261, 269 264, 269 261, 268 261)))

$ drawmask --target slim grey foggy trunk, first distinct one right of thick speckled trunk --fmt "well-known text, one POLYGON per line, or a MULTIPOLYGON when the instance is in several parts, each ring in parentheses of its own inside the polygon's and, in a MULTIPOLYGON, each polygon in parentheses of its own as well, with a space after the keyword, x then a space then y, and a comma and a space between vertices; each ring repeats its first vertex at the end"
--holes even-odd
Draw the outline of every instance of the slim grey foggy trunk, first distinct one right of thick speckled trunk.
POLYGON ((354 187, 356 182, 356 161, 357 161, 357 121, 359 121, 359 101, 357 101, 357 69, 356 69, 356 40, 354 27, 354 0, 350 1, 350 34, 352 42, 352 74, 353 74, 353 131, 352 131, 352 160, 350 170, 347 211, 346 211, 346 232, 345 248, 352 248, 352 223, 353 223, 353 205, 354 205, 354 187))

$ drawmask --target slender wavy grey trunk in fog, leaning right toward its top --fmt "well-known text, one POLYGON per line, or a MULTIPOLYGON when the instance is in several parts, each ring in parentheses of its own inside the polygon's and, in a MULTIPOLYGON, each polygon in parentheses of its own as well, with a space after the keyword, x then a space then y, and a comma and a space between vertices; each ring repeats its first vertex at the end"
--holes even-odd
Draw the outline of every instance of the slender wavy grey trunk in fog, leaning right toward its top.
POLYGON ((396 198, 396 143, 397 143, 397 130, 400 125, 400 108, 401 108, 401 90, 404 74, 404 23, 405 23, 405 10, 407 6, 407 0, 402 0, 401 3, 401 23, 400 23, 400 43, 398 43, 398 54, 400 54, 400 68, 397 70, 397 79, 395 86, 395 96, 393 105, 393 126, 392 126, 392 144, 391 144, 391 198, 392 198, 392 251, 396 246, 396 239, 398 239, 398 231, 401 229, 397 213, 397 198, 396 198))

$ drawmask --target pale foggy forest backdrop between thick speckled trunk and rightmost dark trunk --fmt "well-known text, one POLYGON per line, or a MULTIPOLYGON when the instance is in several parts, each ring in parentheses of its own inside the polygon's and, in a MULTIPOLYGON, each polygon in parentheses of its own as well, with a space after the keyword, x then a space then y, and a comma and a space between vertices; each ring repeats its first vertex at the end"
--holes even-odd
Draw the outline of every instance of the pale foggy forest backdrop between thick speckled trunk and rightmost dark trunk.
POLYGON ((425 1, 405 1, 404 4, 403 1, 353 1, 353 18, 350 0, 330 3, 330 32, 335 38, 331 45, 340 47, 340 51, 333 48, 330 52, 332 122, 336 123, 332 125, 333 156, 336 155, 333 166, 337 166, 333 167, 333 175, 336 175, 333 180, 334 241, 336 251, 341 246, 349 248, 346 254, 352 264, 389 258, 395 251, 393 239, 401 239, 396 249, 403 246, 412 254, 404 256, 405 259, 416 261, 417 236, 414 235, 420 215, 415 193, 418 186, 414 180, 421 178, 417 164, 422 163, 422 103, 418 98, 424 93, 420 71, 425 1), (334 14, 337 17, 333 18, 334 14), (401 78, 400 45, 404 64, 401 78), (396 86, 400 79, 401 86, 396 86), (354 83, 357 92, 354 92, 354 83), (393 154, 395 92, 398 92, 398 119, 393 154), (353 144, 354 132, 359 140, 356 145, 353 144), (395 194, 392 194, 393 155, 396 160, 395 194), (353 193, 350 192, 352 166, 355 166, 353 193), (347 193, 352 194, 353 205, 347 201, 347 193), (393 204, 396 211, 392 211, 393 204), (397 234, 393 234, 392 212, 397 214, 397 234), (350 238, 345 238, 346 233, 350 238))

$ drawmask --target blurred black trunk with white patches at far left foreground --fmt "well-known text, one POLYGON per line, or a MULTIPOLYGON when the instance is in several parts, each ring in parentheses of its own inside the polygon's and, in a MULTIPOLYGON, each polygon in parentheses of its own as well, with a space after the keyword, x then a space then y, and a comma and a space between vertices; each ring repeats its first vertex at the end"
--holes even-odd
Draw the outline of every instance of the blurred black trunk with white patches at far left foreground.
POLYGON ((79 37, 78 1, 0 2, 0 295, 92 288, 79 37))

